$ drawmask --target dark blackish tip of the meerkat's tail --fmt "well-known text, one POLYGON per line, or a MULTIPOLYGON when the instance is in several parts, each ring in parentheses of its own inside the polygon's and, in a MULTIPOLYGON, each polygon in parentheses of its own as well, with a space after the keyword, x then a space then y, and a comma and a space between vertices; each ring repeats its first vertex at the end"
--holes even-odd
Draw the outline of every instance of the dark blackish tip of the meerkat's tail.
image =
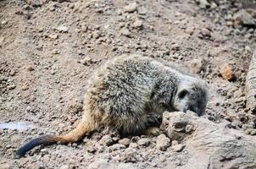
POLYGON ((16 155, 22 156, 25 155, 25 153, 37 145, 41 144, 53 144, 56 143, 55 137, 53 135, 44 135, 41 137, 38 137, 36 139, 32 139, 30 142, 25 144, 24 146, 20 147, 19 150, 16 151, 16 155))

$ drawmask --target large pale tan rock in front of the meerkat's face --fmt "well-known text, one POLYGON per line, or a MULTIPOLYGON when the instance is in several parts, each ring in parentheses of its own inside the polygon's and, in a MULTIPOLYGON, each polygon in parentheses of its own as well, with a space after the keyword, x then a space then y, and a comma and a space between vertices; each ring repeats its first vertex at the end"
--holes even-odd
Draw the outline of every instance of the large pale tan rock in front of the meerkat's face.
POLYGON ((178 168, 256 168, 256 137, 227 128, 227 123, 193 112, 164 112, 161 128, 170 139, 186 144, 188 160, 178 168))

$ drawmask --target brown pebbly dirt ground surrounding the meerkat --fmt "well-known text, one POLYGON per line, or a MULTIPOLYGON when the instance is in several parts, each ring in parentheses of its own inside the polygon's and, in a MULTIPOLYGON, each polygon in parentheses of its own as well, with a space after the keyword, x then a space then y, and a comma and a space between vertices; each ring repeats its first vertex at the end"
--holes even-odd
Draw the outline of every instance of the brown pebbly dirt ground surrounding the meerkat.
POLYGON ((255 130, 244 84, 256 46, 256 5, 247 9, 235 0, 0 1, 0 168, 186 164, 191 156, 186 147, 162 151, 156 137, 123 139, 108 131, 14 158, 30 139, 74 128, 86 80, 101 63, 121 54, 160 58, 205 79, 210 97, 203 117, 255 130))

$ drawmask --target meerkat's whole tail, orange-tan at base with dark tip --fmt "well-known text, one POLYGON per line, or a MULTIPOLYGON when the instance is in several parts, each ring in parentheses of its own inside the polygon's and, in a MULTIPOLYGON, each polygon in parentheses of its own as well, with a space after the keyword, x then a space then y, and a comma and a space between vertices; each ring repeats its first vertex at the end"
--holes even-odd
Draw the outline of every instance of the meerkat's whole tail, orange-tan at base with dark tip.
POLYGON ((47 145, 47 144, 55 144, 55 143, 60 143, 60 144, 73 143, 81 140, 86 134, 89 134, 94 129, 95 128, 92 128, 90 124, 82 121, 69 134, 60 135, 60 136, 43 135, 36 139, 32 139, 30 142, 28 142, 27 144, 19 148, 19 150, 16 151, 16 155, 19 155, 19 156, 25 155, 27 151, 41 144, 47 145))

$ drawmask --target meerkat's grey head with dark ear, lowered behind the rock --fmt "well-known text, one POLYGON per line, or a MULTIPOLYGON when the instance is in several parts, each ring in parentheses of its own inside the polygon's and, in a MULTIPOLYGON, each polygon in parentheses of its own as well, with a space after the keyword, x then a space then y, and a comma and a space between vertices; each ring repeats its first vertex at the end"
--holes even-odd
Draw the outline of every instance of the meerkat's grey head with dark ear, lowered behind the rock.
POLYGON ((208 86, 203 80, 181 82, 175 92, 172 106, 176 111, 190 110, 202 116, 208 101, 208 86))

